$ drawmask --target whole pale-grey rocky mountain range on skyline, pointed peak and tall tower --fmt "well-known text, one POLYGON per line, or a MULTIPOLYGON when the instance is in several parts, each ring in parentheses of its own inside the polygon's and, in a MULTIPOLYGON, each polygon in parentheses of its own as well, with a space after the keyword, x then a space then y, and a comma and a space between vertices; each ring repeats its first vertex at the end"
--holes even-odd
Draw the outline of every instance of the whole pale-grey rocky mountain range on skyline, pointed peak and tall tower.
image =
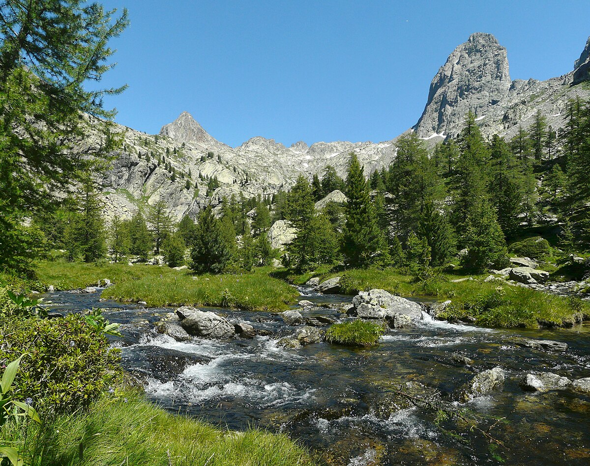
MULTIPOLYGON (((565 123, 570 98, 590 98, 590 38, 575 68, 547 81, 510 80, 506 49, 491 34, 477 32, 459 45, 438 70, 430 85, 424 113, 413 127, 434 145, 455 137, 469 110, 476 114, 484 135, 512 137, 519 125, 529 127, 541 110, 554 129, 565 123)), ((127 127, 123 150, 102 184, 109 216, 127 218, 139 206, 162 199, 176 219, 191 217, 208 203, 232 195, 255 196, 289 188, 303 174, 322 173, 327 165, 344 176, 350 153, 359 157, 365 173, 388 166, 395 157, 395 139, 381 143, 315 143, 300 141, 290 147, 273 139, 253 137, 239 147, 217 141, 183 112, 147 135, 127 127), (207 153, 214 157, 207 157, 207 153), (158 163, 160 160, 160 163, 158 163), (172 173, 174 172, 174 173, 172 173), (207 192, 207 180, 220 186, 207 192)))

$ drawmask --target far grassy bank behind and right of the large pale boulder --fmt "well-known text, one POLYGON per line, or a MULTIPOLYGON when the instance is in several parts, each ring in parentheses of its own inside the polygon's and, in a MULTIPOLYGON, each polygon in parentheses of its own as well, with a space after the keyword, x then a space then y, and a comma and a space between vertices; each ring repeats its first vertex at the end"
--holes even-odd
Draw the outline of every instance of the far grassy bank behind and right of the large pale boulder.
POLYGON ((510 285, 500 280, 484 282, 487 275, 466 276, 433 273, 416 279, 394 269, 350 269, 340 272, 317 270, 306 275, 278 276, 303 284, 312 276, 320 281, 342 277, 343 292, 379 288, 399 296, 432 296, 439 301, 451 300, 441 318, 471 320, 489 327, 571 326, 590 317, 590 304, 577 298, 563 298, 527 287, 510 285), (461 282, 452 280, 471 278, 461 282))

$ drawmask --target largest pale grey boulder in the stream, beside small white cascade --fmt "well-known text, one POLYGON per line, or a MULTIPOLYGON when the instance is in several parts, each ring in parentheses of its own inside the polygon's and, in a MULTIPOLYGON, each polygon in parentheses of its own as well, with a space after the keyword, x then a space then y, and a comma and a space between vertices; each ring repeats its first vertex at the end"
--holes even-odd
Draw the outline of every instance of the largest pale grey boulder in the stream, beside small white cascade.
POLYGON ((352 315, 361 319, 387 319, 394 328, 409 325, 420 320, 422 306, 385 290, 362 291, 352 299, 352 315))

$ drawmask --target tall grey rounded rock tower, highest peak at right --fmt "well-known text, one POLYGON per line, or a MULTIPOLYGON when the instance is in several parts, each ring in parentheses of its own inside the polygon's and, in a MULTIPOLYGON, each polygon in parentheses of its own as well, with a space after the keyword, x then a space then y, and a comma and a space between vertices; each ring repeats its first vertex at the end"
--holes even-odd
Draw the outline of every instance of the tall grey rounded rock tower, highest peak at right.
POLYGON ((500 103, 511 82, 506 48, 491 34, 471 34, 432 79, 426 107, 414 129, 424 138, 453 133, 469 110, 481 117, 500 103))

